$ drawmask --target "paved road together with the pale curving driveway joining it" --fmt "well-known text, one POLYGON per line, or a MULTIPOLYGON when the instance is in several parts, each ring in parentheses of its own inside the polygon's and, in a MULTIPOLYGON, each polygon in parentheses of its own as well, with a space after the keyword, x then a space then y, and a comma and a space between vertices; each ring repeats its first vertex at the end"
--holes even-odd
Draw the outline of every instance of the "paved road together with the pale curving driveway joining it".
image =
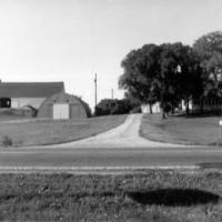
POLYGON ((192 167, 221 162, 222 148, 155 143, 139 137, 141 115, 121 127, 78 142, 41 148, 0 149, 0 172, 59 171, 79 168, 192 167))

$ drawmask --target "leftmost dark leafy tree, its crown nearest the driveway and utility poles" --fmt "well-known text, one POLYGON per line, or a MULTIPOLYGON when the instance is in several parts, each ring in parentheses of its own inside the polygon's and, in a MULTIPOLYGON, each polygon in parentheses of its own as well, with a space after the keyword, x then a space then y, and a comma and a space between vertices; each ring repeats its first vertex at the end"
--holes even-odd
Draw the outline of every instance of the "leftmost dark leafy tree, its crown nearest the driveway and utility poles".
POLYGON ((145 44, 141 49, 132 50, 121 63, 124 73, 119 79, 119 87, 127 90, 128 98, 149 103, 150 108, 158 101, 152 81, 158 72, 158 58, 159 47, 145 44))

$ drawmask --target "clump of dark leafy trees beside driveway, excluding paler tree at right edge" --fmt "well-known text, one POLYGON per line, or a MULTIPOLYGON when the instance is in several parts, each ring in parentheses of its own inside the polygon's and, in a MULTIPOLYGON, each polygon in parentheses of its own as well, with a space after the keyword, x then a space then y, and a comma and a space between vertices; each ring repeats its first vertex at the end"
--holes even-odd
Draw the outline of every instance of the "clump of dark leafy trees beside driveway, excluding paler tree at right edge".
POLYGON ((152 105, 160 101, 162 118, 165 118, 182 99, 189 108, 189 100, 196 93, 195 87, 201 82, 196 58, 192 49, 181 42, 145 44, 123 60, 124 73, 119 85, 141 103, 152 105))

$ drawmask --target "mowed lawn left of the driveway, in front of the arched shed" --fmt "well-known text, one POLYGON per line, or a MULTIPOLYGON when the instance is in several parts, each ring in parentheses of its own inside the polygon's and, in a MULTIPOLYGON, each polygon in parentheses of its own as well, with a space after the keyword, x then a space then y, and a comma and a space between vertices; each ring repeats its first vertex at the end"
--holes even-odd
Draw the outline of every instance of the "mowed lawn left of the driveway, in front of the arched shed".
POLYGON ((123 123, 127 115, 108 115, 73 120, 0 121, 0 145, 54 144, 79 140, 108 131, 123 123))

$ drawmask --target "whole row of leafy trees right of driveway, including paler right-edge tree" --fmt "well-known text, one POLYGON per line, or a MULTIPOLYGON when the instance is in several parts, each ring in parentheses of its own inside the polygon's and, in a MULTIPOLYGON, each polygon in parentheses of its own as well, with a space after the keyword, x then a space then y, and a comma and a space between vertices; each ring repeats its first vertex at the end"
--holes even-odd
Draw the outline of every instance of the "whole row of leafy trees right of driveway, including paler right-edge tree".
POLYGON ((123 59, 119 87, 134 103, 160 102, 162 118, 183 100, 189 114, 192 100, 222 95, 222 32, 200 37, 193 46, 182 42, 144 44, 123 59))

